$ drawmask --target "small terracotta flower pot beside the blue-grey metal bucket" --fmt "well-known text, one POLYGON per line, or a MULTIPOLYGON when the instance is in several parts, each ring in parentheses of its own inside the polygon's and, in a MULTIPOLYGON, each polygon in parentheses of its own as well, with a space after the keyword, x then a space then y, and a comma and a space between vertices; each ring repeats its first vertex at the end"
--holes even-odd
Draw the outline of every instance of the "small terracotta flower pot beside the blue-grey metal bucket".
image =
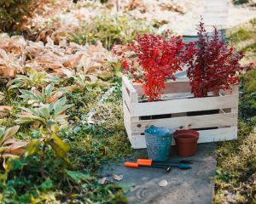
POLYGON ((199 133, 195 130, 177 130, 173 133, 179 156, 194 156, 199 133))

